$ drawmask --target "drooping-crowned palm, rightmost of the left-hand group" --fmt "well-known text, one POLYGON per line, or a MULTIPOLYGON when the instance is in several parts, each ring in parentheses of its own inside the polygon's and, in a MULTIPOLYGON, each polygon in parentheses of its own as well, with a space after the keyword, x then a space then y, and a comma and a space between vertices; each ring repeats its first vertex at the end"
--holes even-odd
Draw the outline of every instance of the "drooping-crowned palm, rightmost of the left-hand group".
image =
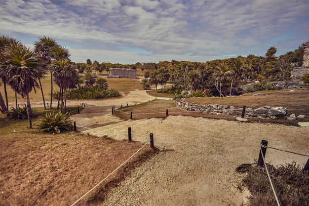
MULTIPOLYGON (((54 60, 51 64, 55 83, 64 91, 64 111, 67 111, 67 89, 72 87, 72 83, 76 80, 77 72, 70 63, 70 59, 54 60)), ((63 100, 62 100, 63 101, 63 100)), ((62 104, 61 104, 62 111, 62 104)))

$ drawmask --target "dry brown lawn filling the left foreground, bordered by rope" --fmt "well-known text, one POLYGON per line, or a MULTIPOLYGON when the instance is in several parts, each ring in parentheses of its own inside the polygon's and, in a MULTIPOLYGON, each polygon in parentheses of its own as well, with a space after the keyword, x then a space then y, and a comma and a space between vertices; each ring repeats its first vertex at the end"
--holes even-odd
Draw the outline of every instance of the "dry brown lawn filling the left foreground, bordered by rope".
MULTIPOLYGON (((37 109, 37 113, 43 115, 44 111, 37 109)), ((34 118, 33 123, 37 121, 34 118)), ((6 120, 0 114, 0 205, 3 206, 71 205, 142 146, 139 142, 75 132, 38 133, 27 125, 27 120, 6 120)), ((146 146, 139 154, 152 153, 146 146)), ((141 162, 143 158, 137 156, 81 202, 102 201, 108 189, 141 162)))

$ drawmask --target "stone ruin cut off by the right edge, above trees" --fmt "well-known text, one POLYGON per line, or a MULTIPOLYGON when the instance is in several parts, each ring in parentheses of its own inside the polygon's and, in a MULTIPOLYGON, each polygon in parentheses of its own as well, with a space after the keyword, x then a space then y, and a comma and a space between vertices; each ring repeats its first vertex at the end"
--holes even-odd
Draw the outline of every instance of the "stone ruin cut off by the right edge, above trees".
POLYGON ((306 74, 309 74, 309 41, 304 44, 303 65, 301 67, 294 67, 291 72, 291 79, 301 80, 306 74))

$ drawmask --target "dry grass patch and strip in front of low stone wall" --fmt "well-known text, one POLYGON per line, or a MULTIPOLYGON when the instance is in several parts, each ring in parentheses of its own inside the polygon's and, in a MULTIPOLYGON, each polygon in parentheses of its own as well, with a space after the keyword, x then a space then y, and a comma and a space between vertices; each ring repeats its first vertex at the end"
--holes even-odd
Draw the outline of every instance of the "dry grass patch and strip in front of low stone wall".
MULTIPOLYGON (((199 99, 199 98, 196 98, 199 99)), ((211 98, 213 99, 213 98, 211 98)), ((195 99, 194 99, 195 100, 195 99)), ((150 118, 165 118, 166 117, 166 109, 168 109, 168 114, 169 115, 183 115, 183 116, 191 116, 191 117, 203 117, 203 118, 209 118, 209 119, 224 119, 224 120, 231 120, 235 121, 235 117, 230 116, 230 115, 217 115, 217 114, 206 114, 206 113, 199 113, 199 112, 188 112, 184 113, 185 110, 182 110, 178 107, 176 107, 175 101, 169 101, 169 100, 160 100, 160 99, 155 99, 150 102, 138 104, 138 105, 133 105, 133 106, 128 106, 128 107, 122 107, 119 108, 118 110, 130 113, 131 111, 133 112, 132 119, 133 120, 139 120, 139 119, 150 119, 150 118), (160 113, 160 114, 145 114, 143 115, 142 113, 160 113), (177 113, 179 112, 179 113, 177 113), (140 115, 138 115, 140 113, 140 115)), ((304 121, 307 121, 309 119, 309 114, 308 112, 304 111, 293 111, 296 115, 299 114, 306 114, 306 118, 304 121)), ((115 115, 123 120, 129 120, 130 115, 125 114, 122 112, 117 112, 115 115)), ((285 119, 282 120, 272 120, 270 118, 247 118, 249 123, 273 123, 273 124, 286 124, 286 125, 295 125, 298 126, 297 120, 295 121, 287 121, 285 119)))

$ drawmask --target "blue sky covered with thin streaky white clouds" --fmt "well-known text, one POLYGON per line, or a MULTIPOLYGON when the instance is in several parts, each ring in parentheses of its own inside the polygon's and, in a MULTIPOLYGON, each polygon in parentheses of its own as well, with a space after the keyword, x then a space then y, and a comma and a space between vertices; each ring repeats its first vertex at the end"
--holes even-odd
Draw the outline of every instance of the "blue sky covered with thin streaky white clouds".
POLYGON ((309 41, 309 0, 0 0, 0 35, 55 39, 75 62, 205 62, 309 41))

